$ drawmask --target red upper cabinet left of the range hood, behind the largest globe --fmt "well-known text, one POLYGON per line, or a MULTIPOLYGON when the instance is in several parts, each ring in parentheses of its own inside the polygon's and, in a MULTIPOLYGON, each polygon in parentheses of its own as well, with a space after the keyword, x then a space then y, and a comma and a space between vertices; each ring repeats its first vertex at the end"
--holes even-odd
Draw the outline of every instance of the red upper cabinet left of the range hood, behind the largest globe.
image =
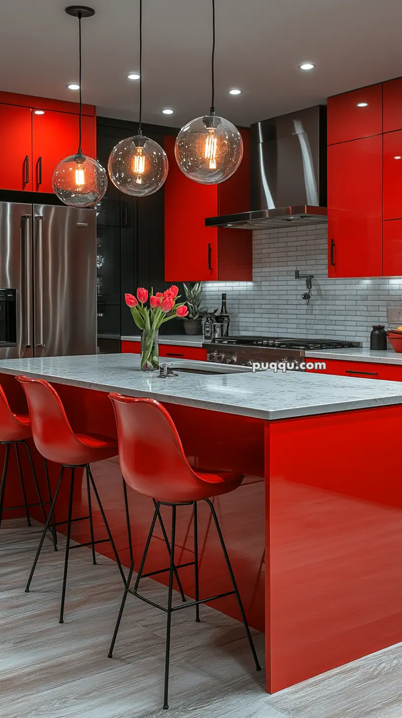
POLYGON ((166 281, 248 281, 253 279, 252 233, 205 227, 205 218, 249 208, 250 146, 243 136, 243 160, 220 185, 200 185, 181 172, 174 157, 175 137, 164 138, 169 174, 164 184, 166 281))

